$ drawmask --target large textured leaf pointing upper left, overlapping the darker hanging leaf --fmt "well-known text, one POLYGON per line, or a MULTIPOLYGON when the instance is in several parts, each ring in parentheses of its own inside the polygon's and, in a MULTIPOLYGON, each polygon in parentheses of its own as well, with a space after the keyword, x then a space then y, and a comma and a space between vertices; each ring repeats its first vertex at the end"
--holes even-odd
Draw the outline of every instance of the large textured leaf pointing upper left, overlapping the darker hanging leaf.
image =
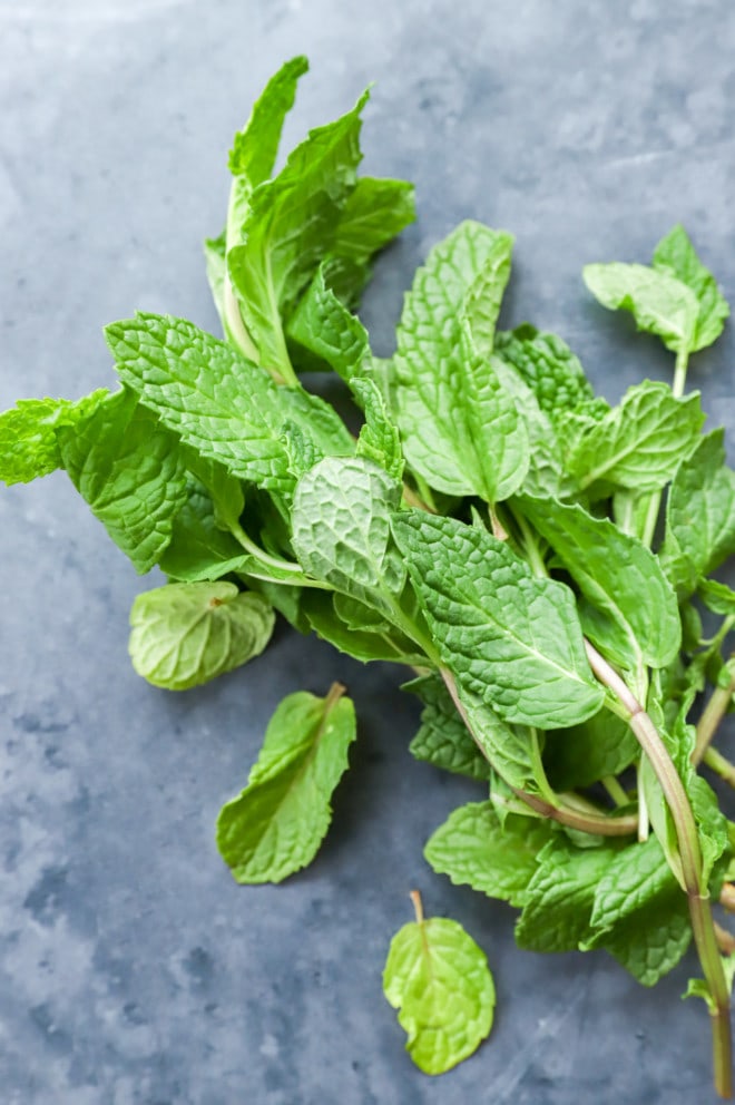
POLYGON ((183 319, 138 314, 106 330, 124 382, 203 457, 239 479, 288 492, 294 479, 283 439, 295 422, 323 452, 349 453, 352 439, 327 403, 278 388, 236 350, 183 319))

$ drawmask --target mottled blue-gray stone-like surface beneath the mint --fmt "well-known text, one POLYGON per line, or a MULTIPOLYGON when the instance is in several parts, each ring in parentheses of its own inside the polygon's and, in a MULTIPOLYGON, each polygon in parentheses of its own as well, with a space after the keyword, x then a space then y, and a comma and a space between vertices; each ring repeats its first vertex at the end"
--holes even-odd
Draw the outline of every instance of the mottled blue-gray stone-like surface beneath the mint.
MULTIPOLYGON (((374 80, 365 168, 418 187, 419 222, 365 305, 390 349, 402 291, 465 216, 518 237, 507 321, 560 332, 614 400, 668 358, 584 290, 676 221, 735 299, 735 7, 728 0, 2 0, 0 407, 110 384, 100 330, 136 307, 214 329, 200 239, 265 79, 306 52, 287 126, 374 80)), ((735 429, 732 330, 696 358, 735 429)), ((421 855, 478 796, 412 761, 399 674, 282 629, 183 695, 126 655, 137 579, 62 475, 0 493, 0 1096, 7 1105, 704 1103, 689 960, 654 992, 602 954, 514 949, 510 910, 421 855), (344 679, 361 728, 333 832, 282 887, 238 888, 213 825, 282 695, 344 679), (490 1042, 431 1080, 381 994, 408 891, 496 970, 490 1042)))

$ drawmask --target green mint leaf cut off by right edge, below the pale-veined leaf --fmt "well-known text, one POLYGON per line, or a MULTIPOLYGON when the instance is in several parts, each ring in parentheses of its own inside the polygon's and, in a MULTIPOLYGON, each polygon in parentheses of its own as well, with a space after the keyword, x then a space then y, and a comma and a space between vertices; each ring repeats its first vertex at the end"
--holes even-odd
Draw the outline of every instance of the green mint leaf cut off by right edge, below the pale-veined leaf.
POLYGON ((735 552, 735 472, 725 463, 724 430, 706 434, 680 465, 666 506, 664 569, 679 593, 690 595, 735 552))

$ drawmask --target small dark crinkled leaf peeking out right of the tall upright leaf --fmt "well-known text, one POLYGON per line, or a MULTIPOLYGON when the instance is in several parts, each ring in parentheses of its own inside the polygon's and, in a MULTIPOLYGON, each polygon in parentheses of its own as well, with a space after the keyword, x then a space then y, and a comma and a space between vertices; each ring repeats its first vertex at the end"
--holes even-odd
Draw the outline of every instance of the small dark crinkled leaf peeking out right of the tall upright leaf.
POLYGON ((498 334, 494 349, 528 384, 541 410, 553 421, 594 399, 578 358, 556 334, 525 324, 498 334))

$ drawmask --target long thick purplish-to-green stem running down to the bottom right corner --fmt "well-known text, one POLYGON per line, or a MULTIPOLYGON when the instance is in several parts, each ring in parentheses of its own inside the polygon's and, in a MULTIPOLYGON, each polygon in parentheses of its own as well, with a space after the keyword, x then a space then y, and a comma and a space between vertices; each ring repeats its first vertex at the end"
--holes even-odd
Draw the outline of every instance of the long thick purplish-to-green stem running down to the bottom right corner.
POLYGON ((722 1097, 729 1097, 733 1089, 729 989, 717 948, 707 887, 702 878, 702 852, 694 813, 666 745, 650 717, 618 673, 588 640, 585 642, 585 648, 597 678, 628 711, 628 724, 650 761, 674 819, 694 941, 712 996, 715 1087, 722 1097))

